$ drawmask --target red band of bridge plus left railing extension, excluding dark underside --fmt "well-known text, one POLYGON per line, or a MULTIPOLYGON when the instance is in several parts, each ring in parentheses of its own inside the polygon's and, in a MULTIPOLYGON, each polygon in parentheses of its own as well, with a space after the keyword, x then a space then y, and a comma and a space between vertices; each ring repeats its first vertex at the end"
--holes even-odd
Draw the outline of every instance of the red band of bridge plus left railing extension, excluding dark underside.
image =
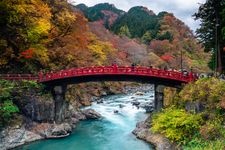
POLYGON ((123 66, 96 66, 85 68, 71 68, 58 72, 48 72, 43 74, 39 72, 38 76, 32 74, 2 74, 0 79, 7 80, 36 80, 41 83, 54 82, 56 80, 70 79, 76 77, 91 76, 136 76, 136 77, 154 77, 188 83, 196 80, 193 73, 183 74, 177 71, 161 70, 149 67, 123 67, 123 66))

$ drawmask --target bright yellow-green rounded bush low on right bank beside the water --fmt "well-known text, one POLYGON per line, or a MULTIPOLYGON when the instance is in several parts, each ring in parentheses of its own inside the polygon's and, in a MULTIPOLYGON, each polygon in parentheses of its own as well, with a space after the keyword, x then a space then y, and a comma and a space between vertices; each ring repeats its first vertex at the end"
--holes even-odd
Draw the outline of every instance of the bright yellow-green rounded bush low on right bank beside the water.
POLYGON ((151 130, 164 134, 172 141, 185 142, 198 131, 201 123, 200 115, 171 107, 153 115, 151 130))

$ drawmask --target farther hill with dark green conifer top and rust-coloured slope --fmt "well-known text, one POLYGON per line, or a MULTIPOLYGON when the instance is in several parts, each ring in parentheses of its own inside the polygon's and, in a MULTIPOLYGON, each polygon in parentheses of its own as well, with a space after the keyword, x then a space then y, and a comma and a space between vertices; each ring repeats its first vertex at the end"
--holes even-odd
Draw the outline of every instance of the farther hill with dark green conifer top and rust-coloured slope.
POLYGON ((171 13, 160 12, 156 15, 143 6, 122 12, 108 3, 90 8, 84 4, 76 7, 80 10, 85 8, 83 13, 91 22, 91 31, 101 40, 114 45, 120 53, 130 56, 129 62, 179 69, 182 53, 182 66, 185 69, 192 68, 197 72, 210 71, 209 55, 204 53, 204 48, 198 43, 190 28, 171 13), (94 17, 93 13, 89 14, 91 10, 95 10, 94 17), (117 15, 107 17, 104 12, 117 15), (110 27, 107 26, 109 20, 113 20, 110 27), (160 63, 156 63, 156 58, 160 63))

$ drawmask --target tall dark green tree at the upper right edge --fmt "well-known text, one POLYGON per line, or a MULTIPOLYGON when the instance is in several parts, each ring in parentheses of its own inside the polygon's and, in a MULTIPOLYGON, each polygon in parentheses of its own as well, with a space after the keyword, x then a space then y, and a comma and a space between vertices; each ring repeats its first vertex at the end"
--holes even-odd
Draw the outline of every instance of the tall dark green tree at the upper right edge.
MULTIPOLYGON (((216 51, 217 69, 222 71, 222 64, 225 66, 225 2, 224 0, 207 0, 201 4, 198 12, 194 14, 196 20, 200 20, 200 28, 197 29, 197 36, 204 44, 206 51, 216 51)), ((224 68, 223 68, 224 69, 224 68)))

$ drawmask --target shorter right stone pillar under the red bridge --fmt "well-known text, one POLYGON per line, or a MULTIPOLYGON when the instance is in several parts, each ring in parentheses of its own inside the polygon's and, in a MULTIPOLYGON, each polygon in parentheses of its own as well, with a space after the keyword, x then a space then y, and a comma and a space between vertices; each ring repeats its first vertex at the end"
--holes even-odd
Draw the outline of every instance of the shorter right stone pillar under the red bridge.
POLYGON ((155 111, 159 111, 163 108, 164 100, 164 86, 155 84, 155 111))

